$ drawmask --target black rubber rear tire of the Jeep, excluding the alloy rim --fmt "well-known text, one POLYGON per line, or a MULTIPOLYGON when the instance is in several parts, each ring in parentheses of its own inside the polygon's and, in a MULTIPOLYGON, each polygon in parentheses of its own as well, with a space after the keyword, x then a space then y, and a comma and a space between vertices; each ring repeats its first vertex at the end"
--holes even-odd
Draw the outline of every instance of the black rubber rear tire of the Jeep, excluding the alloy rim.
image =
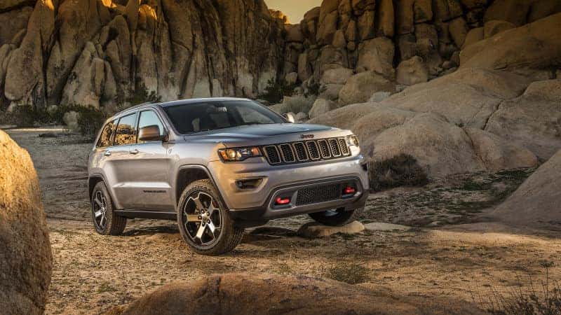
POLYGON ((92 198, 90 202, 91 202, 91 209, 92 209, 91 212, 92 212, 93 228, 95 232, 97 232, 100 235, 116 236, 116 235, 123 234, 123 231, 125 230, 127 225, 127 218, 124 218, 123 216, 119 216, 115 213, 113 200, 111 200, 111 195, 109 195, 109 191, 107 191, 107 187, 105 186, 104 182, 100 181, 95 185, 95 187, 93 188, 92 198), (105 222, 102 228, 100 228, 99 225, 97 225, 96 223, 95 210, 94 210, 95 209, 94 202, 98 193, 101 193, 105 200, 106 210, 104 215, 107 221, 105 222))

